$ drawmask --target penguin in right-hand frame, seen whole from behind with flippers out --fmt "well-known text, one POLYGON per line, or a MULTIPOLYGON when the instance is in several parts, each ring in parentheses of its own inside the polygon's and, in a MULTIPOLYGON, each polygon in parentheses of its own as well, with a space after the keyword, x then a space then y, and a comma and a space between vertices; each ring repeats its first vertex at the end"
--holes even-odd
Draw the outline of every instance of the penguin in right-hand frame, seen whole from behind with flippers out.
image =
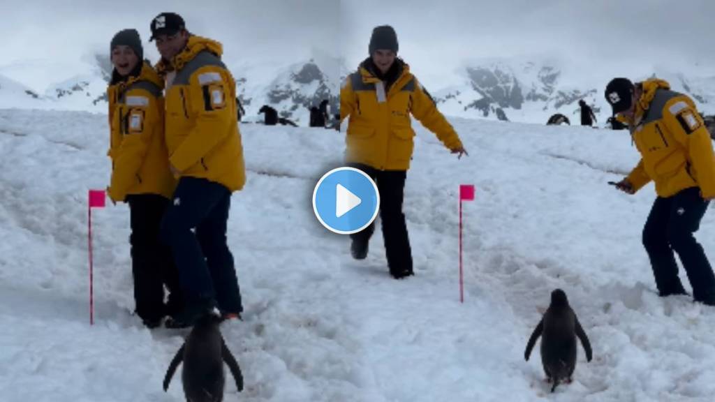
POLYGON ((551 305, 531 334, 524 358, 529 360, 536 339, 541 336, 541 363, 548 381, 553 382, 551 392, 561 382, 570 383, 576 369, 576 337, 586 351, 586 361, 591 361, 591 342, 583 332, 576 313, 568 305, 566 293, 561 289, 551 292, 551 305))

